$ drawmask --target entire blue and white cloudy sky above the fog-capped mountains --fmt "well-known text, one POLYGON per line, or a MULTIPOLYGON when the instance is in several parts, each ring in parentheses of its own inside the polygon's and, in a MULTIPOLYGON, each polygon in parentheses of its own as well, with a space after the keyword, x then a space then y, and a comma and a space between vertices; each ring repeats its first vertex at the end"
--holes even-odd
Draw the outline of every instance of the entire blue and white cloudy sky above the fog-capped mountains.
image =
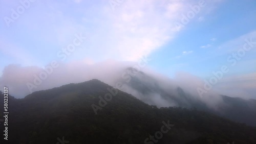
POLYGON ((54 62, 147 57, 147 66, 168 78, 188 73, 209 81, 224 66, 214 88, 256 99, 248 94, 256 88, 254 0, 0 0, 0 18, 0 85, 26 86, 22 78, 54 62))

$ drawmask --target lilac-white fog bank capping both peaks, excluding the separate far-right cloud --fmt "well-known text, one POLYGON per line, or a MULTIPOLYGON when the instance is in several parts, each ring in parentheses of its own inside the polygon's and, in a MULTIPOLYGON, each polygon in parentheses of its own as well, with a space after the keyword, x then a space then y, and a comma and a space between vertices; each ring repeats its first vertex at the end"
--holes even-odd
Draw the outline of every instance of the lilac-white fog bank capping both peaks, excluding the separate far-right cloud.
MULTIPOLYGON (((130 89, 130 93, 134 93, 129 85, 131 85, 131 79, 137 78, 147 85, 157 83, 159 84, 157 87, 162 87, 166 90, 174 90, 179 86, 191 93, 191 95, 193 95, 192 97, 199 98, 197 87, 203 87, 204 84, 201 79, 187 73, 177 73, 175 78, 170 79, 146 66, 139 67, 136 62, 117 62, 112 60, 96 64, 87 64, 82 61, 79 63, 60 63, 59 66, 53 68, 53 72, 47 75, 45 80, 41 80, 42 82, 37 86, 34 80, 36 78, 36 82, 38 82, 38 79, 40 79, 39 74, 42 71, 45 71, 44 68, 36 66, 23 67, 11 64, 5 67, 0 79, 0 86, 8 85, 9 88, 12 89, 10 93, 14 95, 14 97, 24 98, 30 93, 29 87, 27 86, 28 83, 36 86, 31 88, 33 92, 69 83, 99 79, 114 87, 116 87, 117 82, 121 82, 125 91, 129 91, 130 89), (146 75, 138 73, 134 68, 129 69, 129 67, 133 66, 137 66, 139 71, 143 71, 146 75)), ((206 97, 208 94, 214 94, 214 92, 207 92, 207 94, 205 94, 206 97)), ((241 95, 241 97, 243 97, 243 95, 241 95)))

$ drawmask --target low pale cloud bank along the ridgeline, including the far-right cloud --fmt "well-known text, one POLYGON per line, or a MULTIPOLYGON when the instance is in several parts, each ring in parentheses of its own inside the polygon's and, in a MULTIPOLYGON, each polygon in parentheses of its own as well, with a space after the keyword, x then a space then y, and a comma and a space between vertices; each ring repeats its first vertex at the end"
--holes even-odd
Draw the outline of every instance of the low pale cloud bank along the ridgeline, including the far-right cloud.
MULTIPOLYGON (((126 84, 125 81, 127 79, 124 79, 125 75, 130 74, 126 74, 125 70, 127 67, 136 65, 138 65, 136 62, 118 62, 115 60, 107 60, 95 64, 88 64, 85 61, 59 63, 59 67, 53 69, 52 74, 49 75, 47 79, 42 80, 41 84, 36 86, 36 88, 33 88, 32 91, 50 89, 69 83, 79 83, 91 79, 99 79, 116 87, 116 83, 119 81, 126 84)), ((197 87, 203 87, 204 81, 196 76, 188 73, 177 73, 174 78, 170 79, 162 74, 156 73, 146 66, 141 67, 139 70, 150 76, 148 78, 143 78, 138 75, 140 81, 144 81, 144 83, 149 84, 150 79, 154 78, 154 81, 159 84, 159 87, 166 91, 172 91, 179 86, 193 97, 200 99, 197 87)), ((14 97, 24 98, 30 93, 27 83, 33 83, 35 76, 38 76, 42 71, 45 71, 45 69, 36 66, 11 64, 5 67, 2 77, 0 77, 0 86, 8 86, 10 94, 14 95, 14 97)), ((214 86, 213 90, 208 91, 208 94, 218 93, 226 94, 230 97, 255 98, 255 76, 255 74, 250 74, 223 78, 214 86), (232 87, 236 87, 236 92, 231 90, 232 87)), ((129 92, 129 90, 121 90, 129 92)), ((132 92, 130 91, 129 93, 132 92)))

